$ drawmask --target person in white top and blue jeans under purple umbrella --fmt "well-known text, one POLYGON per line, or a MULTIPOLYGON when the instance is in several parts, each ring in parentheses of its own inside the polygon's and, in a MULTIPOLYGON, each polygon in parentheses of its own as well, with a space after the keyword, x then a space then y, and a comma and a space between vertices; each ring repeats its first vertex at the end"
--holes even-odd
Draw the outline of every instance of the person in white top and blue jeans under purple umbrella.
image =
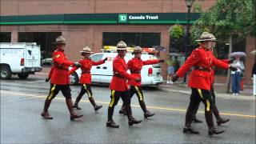
POLYGON ((243 70, 245 70, 245 66, 242 61, 240 61, 240 57, 236 56, 234 62, 231 64, 238 68, 237 71, 231 71, 231 79, 232 79, 232 94, 238 95, 240 91, 240 83, 242 80, 243 70))

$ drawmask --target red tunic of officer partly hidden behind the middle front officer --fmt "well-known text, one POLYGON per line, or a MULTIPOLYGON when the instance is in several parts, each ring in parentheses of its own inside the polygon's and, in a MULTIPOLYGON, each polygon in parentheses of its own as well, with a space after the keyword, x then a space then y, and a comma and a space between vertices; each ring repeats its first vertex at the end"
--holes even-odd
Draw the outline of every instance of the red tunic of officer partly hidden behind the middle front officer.
MULTIPOLYGON (((141 76, 142 66, 152 65, 152 64, 156 64, 158 62, 159 62, 158 59, 142 61, 141 58, 132 58, 127 63, 127 66, 128 66, 128 69, 130 70, 130 74, 132 76, 142 79, 142 76, 141 76)), ((142 86, 142 82, 135 82, 133 79, 130 79, 130 80, 128 80, 128 85, 130 85, 130 86, 142 86)))

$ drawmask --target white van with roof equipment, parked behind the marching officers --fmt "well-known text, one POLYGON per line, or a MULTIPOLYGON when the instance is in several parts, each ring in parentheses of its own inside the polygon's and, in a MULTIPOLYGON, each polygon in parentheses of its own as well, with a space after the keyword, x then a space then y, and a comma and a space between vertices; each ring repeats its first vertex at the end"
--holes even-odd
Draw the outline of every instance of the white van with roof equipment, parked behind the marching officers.
MULTIPOLYGON (((101 59, 108 58, 108 60, 99 66, 92 66, 90 74, 92 75, 92 83, 106 83, 109 84, 113 77, 113 60, 118 55, 116 52, 110 53, 97 53, 92 54, 90 58, 97 62, 101 59)), ((134 55, 127 53, 126 62, 134 55)), ((157 57, 151 54, 142 54, 142 60, 156 59, 157 57)), ((130 72, 128 70, 128 72, 130 72)), ((154 86, 162 83, 161 67, 159 64, 146 65, 142 67, 142 86, 154 86)), ((81 76, 81 69, 76 70, 70 75, 70 84, 78 84, 79 78, 81 76)))

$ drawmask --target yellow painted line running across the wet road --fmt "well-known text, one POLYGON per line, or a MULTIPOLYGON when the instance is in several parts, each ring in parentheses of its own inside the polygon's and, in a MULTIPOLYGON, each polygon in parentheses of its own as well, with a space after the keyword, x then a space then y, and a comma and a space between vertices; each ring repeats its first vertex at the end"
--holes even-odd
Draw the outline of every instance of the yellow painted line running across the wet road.
MULTIPOLYGON (((46 98, 46 95, 35 95, 35 94, 22 94, 22 93, 16 93, 16 92, 9 92, 6 90, 1 90, 0 91, 2 94, 17 94, 17 95, 24 95, 24 96, 28 96, 28 97, 34 97, 34 98, 46 98)), ((58 100, 65 100, 65 98, 54 98, 54 99, 58 99, 58 100)), ((89 102, 87 100, 81 100, 80 102, 89 102)), ((110 102, 98 102, 97 103, 101 103, 101 104, 106 104, 109 105, 110 102)), ((122 104, 118 104, 119 106, 122 106, 122 104)), ((138 105, 130 105, 133 107, 140 107, 138 105)), ((155 109, 155 110, 170 110, 170 111, 181 111, 181 112, 186 112, 185 109, 178 109, 178 108, 168 108, 168 107, 158 107, 158 106, 146 106, 147 108, 150 109, 155 109)), ((202 113, 204 114, 204 111, 200 111, 198 110, 198 113, 202 113)), ((246 115, 246 114, 234 114, 234 113, 220 113, 222 115, 230 115, 230 116, 238 116, 238 117, 245 117, 245 118, 256 118, 256 115, 246 115)))

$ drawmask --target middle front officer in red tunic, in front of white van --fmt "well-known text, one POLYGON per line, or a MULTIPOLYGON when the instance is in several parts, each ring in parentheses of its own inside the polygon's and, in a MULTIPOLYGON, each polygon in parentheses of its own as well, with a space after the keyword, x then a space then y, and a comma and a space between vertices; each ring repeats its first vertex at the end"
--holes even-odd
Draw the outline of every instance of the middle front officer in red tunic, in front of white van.
POLYGON ((124 57, 126 56, 126 43, 125 42, 118 42, 117 45, 118 56, 114 58, 113 61, 113 78, 110 83, 110 90, 111 90, 111 101, 108 108, 108 118, 106 122, 106 126, 118 128, 119 126, 113 120, 114 114, 114 106, 118 104, 118 100, 121 97, 123 103, 126 106, 126 113, 128 117, 128 124, 132 126, 133 124, 138 124, 142 121, 136 120, 132 116, 132 111, 130 107, 130 95, 128 92, 128 85, 126 80, 135 80, 135 82, 140 82, 140 78, 136 78, 131 74, 126 72, 127 66, 124 57))

